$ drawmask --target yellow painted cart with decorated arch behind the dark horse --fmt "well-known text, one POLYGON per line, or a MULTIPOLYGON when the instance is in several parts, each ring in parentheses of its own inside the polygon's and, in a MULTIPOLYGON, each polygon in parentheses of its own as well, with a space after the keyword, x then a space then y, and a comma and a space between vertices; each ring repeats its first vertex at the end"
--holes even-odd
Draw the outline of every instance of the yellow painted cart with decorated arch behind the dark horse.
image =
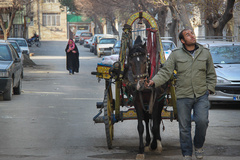
MULTIPOLYGON (((99 112, 93 117, 95 123, 104 123, 107 139, 107 146, 112 148, 112 140, 114 137, 114 124, 117 122, 123 122, 125 120, 137 119, 132 97, 125 93, 125 83, 123 82, 123 71, 125 65, 125 58, 127 52, 127 45, 132 40, 131 26, 137 19, 145 19, 149 22, 151 28, 158 29, 155 19, 146 12, 137 12, 133 14, 127 21, 124 27, 124 32, 121 39, 121 50, 119 54, 119 61, 113 65, 97 64, 96 71, 92 72, 92 75, 96 75, 98 80, 105 80, 105 90, 103 102, 97 102, 96 106, 99 112), (114 84, 114 85, 113 85, 114 84), (113 87, 115 86, 115 93, 113 93, 113 87), (127 107, 127 110, 121 110, 122 107, 127 107)), ((160 55, 160 62, 165 62, 165 56, 162 48, 161 37, 157 31, 157 44, 160 55)), ((171 121, 177 118, 176 110, 176 97, 174 88, 174 76, 171 78, 171 85, 169 86, 169 93, 164 96, 166 99, 166 106, 162 111, 162 119, 170 119, 171 121)))

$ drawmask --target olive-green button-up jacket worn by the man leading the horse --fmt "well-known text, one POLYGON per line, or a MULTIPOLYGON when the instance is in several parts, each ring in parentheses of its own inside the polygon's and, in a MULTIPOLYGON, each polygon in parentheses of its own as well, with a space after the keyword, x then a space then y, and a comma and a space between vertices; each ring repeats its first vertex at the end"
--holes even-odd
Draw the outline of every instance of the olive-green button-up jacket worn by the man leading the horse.
POLYGON ((176 70, 177 98, 200 97, 207 90, 215 92, 216 73, 212 56, 207 48, 200 44, 197 46, 194 57, 184 47, 173 50, 164 66, 152 78, 155 86, 166 83, 176 70))

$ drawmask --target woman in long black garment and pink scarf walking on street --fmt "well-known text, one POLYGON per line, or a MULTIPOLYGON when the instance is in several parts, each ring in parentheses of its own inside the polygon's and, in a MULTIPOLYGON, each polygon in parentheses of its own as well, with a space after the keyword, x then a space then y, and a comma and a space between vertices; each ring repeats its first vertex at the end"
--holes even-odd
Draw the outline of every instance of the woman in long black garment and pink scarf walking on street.
POLYGON ((79 71, 79 52, 77 45, 73 42, 72 39, 69 39, 67 47, 65 49, 66 57, 67 57, 67 64, 66 68, 69 71, 69 74, 74 74, 74 72, 79 71))

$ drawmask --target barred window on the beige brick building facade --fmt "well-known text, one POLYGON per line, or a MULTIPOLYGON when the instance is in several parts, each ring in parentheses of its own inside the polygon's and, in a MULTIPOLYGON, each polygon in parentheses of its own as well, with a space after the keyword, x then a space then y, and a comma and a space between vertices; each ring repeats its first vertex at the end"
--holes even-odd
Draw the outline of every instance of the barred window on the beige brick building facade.
POLYGON ((60 26, 60 14, 43 13, 43 26, 60 26))

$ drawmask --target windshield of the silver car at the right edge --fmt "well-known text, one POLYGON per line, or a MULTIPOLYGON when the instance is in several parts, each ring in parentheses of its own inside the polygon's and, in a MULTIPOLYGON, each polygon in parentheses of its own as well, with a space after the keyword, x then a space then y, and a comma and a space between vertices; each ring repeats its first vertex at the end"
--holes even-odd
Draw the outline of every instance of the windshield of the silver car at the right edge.
POLYGON ((240 63, 240 46, 211 46, 213 63, 240 63))

